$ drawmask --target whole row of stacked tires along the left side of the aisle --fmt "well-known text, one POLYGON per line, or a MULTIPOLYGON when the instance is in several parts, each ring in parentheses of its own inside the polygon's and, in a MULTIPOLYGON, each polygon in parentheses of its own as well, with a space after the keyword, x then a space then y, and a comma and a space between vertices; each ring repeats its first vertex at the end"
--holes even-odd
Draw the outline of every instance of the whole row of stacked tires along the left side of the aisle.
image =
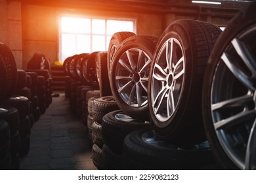
POLYGON ((42 79, 38 76, 42 72, 49 75, 49 71, 33 68, 36 64, 31 61, 28 65, 32 67, 30 70, 17 70, 10 48, 0 43, 1 169, 20 169, 20 157, 26 156, 30 150, 31 128, 43 114, 39 108, 40 90, 45 92, 45 104, 49 106, 51 103, 51 80, 47 79, 47 83, 45 76, 42 79), (49 92, 46 88, 39 88, 38 83, 45 84, 49 92))

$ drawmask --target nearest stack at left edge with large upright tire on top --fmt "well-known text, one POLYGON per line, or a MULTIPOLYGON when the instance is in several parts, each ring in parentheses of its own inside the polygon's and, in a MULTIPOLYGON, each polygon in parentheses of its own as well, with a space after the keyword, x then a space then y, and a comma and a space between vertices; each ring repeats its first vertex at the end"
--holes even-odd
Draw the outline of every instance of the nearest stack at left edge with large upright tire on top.
MULTIPOLYGON (((17 83, 17 69, 10 48, 0 43, 0 103, 14 93, 17 83)), ((14 107, 0 105, 0 167, 1 169, 20 168, 20 125, 19 111, 14 107)))

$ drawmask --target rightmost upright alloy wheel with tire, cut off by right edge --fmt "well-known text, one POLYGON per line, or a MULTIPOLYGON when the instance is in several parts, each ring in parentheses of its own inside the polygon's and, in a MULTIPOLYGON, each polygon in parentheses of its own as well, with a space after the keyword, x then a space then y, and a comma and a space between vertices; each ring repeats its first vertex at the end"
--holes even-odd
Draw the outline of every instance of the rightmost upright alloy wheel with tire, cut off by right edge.
POLYGON ((225 169, 256 169, 255 8, 253 3, 228 24, 203 86, 205 130, 225 169))

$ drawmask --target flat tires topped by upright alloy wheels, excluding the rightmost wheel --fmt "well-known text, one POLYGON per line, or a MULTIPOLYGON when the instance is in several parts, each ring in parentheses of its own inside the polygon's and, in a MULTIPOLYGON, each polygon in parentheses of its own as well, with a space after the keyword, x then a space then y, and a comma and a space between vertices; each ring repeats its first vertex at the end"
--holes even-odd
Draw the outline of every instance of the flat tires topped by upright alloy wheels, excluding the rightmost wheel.
POLYGON ((121 110, 102 119, 104 169, 202 169, 215 163, 200 101, 203 71, 220 34, 206 22, 177 20, 160 38, 113 35, 108 76, 121 110))

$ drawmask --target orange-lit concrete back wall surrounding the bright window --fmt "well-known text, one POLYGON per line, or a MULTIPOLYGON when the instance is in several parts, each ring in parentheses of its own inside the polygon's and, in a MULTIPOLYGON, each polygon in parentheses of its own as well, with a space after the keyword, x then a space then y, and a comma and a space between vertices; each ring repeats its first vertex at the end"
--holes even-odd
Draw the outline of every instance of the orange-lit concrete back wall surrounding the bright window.
MULTIPOLYGON (((192 18, 217 25, 227 24, 230 18, 214 18, 211 16, 182 15, 179 9, 174 12, 156 10, 118 10, 108 8, 92 8, 86 5, 45 4, 46 1, 0 0, 0 41, 8 44, 14 53, 18 69, 26 69, 26 65, 35 52, 43 52, 53 63, 58 58, 58 24, 60 16, 74 15, 89 18, 127 18, 133 19, 137 25, 137 34, 160 36, 164 29, 179 18, 192 18)), ((54 1, 51 1, 54 2, 54 1)), ((60 1, 56 1, 60 2, 60 1)), ((192 11, 194 12, 194 10, 192 11)))

